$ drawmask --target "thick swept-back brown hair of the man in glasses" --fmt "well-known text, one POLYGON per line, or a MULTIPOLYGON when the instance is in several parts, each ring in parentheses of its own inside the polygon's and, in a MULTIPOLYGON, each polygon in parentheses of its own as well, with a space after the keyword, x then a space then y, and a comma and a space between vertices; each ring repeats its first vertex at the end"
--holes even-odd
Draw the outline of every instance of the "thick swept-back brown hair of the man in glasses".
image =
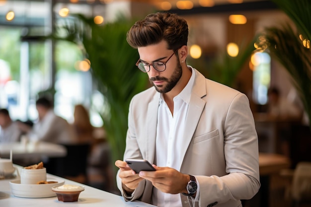
POLYGON ((177 14, 157 12, 135 22, 127 33, 127 42, 133 47, 145 47, 165 40, 169 50, 176 50, 188 41, 188 24, 177 14))

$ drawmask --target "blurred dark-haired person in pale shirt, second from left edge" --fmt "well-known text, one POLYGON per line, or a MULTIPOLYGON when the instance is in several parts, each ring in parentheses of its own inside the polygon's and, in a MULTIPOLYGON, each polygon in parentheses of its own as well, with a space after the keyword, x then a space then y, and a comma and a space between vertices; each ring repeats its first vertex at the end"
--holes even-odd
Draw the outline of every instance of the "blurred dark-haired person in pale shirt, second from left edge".
POLYGON ((30 140, 42 140, 53 143, 76 143, 77 135, 73 127, 53 110, 52 101, 41 97, 36 101, 38 120, 32 128, 25 126, 27 136, 30 140))

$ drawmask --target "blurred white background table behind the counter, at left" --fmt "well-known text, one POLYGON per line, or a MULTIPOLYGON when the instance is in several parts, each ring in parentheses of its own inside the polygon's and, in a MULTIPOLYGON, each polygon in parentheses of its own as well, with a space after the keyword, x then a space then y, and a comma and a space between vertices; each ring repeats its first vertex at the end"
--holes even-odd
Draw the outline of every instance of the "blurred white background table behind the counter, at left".
POLYGON ((13 159, 33 157, 64 157, 67 150, 63 145, 39 141, 22 144, 20 142, 0 143, 0 157, 9 158, 12 150, 13 159))

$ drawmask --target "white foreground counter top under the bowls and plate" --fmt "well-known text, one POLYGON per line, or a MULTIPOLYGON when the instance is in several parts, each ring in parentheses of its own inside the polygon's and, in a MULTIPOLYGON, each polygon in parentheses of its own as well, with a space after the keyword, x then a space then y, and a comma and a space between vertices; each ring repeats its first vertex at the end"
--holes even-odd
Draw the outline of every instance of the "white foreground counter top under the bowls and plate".
MULTIPOLYGON (((48 179, 65 180, 65 184, 82 185, 50 174, 47 177, 48 179)), ((11 194, 10 181, 0 180, 0 207, 154 207, 139 201, 125 202, 121 196, 85 185, 82 185, 85 190, 80 193, 78 202, 73 203, 59 202, 56 195, 41 199, 18 198, 11 194)))

